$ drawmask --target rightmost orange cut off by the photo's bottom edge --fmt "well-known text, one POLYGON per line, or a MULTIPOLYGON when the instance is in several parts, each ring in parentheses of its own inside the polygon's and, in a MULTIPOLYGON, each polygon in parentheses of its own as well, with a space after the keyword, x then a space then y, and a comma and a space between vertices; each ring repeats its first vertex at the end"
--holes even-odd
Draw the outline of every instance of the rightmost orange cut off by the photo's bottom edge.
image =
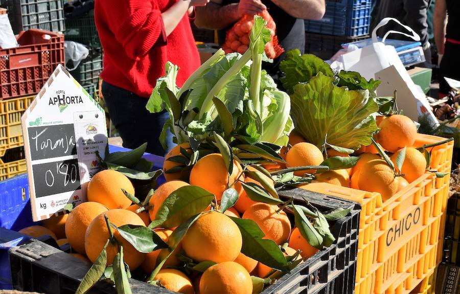
POLYGON ((204 271, 200 279, 200 293, 251 294, 251 276, 239 263, 222 262, 204 271))

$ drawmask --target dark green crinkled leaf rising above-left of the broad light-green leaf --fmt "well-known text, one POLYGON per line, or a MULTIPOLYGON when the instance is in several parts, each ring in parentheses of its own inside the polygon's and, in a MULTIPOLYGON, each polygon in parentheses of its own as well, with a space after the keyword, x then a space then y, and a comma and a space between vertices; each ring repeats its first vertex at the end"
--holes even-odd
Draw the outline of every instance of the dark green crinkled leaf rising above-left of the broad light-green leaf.
POLYGON ((293 88, 296 84, 308 82, 318 73, 323 73, 328 77, 334 76, 331 67, 323 59, 313 54, 301 55, 298 49, 286 53, 286 59, 281 61, 280 69, 285 73, 281 82, 289 94, 294 92, 293 88))

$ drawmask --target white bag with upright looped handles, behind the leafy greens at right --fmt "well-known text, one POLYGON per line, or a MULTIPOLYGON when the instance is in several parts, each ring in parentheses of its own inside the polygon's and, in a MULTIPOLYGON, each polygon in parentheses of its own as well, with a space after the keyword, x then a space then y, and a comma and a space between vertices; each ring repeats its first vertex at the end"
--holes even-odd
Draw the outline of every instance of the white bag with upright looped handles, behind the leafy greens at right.
POLYGON ((420 41, 420 36, 417 35, 417 33, 411 28, 401 24, 398 19, 386 17, 382 19, 382 21, 380 21, 377 27, 375 27, 372 31, 373 43, 370 46, 357 50, 349 50, 346 54, 341 56, 343 68, 346 71, 358 72, 366 79, 371 79, 374 78, 374 75, 377 72, 386 69, 390 65, 394 65, 404 80, 410 79, 401 59, 398 56, 398 53, 396 52, 396 49, 393 46, 385 46, 383 43, 386 37, 392 33, 404 35, 415 41, 420 41), (411 34, 390 30, 385 33, 382 41, 379 42, 377 39, 377 30, 388 24, 391 20, 398 22, 398 24, 404 27, 411 34))

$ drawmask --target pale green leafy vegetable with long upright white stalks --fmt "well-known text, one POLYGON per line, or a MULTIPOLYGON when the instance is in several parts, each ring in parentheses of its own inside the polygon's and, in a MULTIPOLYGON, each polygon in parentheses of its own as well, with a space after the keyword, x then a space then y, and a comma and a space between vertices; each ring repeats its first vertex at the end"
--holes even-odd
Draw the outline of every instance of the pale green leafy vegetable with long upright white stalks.
POLYGON ((166 76, 157 80, 146 106, 151 112, 169 112, 159 138, 163 145, 167 128, 178 144, 190 138, 204 143, 217 133, 227 143, 237 139, 246 144, 287 145, 293 129, 290 99, 262 71, 265 44, 270 40, 265 26, 266 21, 255 16, 243 55, 218 51, 180 89, 175 85, 177 66, 166 64, 166 76))

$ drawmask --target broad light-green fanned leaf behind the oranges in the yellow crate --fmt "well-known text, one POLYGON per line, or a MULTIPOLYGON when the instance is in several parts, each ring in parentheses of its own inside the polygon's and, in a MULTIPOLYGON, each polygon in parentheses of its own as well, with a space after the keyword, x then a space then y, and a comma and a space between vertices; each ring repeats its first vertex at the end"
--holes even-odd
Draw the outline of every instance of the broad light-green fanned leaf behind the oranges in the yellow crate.
POLYGON ((291 116, 296 131, 308 142, 321 148, 325 138, 329 144, 357 149, 370 145, 377 130, 371 116, 377 103, 358 91, 333 84, 334 78, 318 73, 309 83, 294 86, 291 95, 291 116))

